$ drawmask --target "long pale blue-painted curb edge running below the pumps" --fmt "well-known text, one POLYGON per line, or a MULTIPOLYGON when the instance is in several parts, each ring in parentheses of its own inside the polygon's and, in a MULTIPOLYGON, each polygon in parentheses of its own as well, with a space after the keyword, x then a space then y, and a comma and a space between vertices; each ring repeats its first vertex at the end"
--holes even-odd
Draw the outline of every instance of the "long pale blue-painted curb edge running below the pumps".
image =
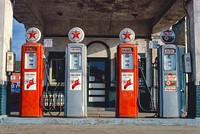
POLYGON ((66 125, 146 125, 146 126, 200 126, 199 119, 161 119, 161 118, 22 118, 3 117, 0 125, 21 124, 66 124, 66 125))

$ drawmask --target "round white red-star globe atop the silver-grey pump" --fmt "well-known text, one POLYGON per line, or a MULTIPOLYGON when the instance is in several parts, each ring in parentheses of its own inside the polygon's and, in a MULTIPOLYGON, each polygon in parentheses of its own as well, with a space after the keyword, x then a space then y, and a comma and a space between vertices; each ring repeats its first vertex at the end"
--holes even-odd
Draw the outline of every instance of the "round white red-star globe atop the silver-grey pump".
POLYGON ((84 39, 84 32, 81 28, 74 27, 69 31, 68 37, 72 42, 81 42, 84 39))

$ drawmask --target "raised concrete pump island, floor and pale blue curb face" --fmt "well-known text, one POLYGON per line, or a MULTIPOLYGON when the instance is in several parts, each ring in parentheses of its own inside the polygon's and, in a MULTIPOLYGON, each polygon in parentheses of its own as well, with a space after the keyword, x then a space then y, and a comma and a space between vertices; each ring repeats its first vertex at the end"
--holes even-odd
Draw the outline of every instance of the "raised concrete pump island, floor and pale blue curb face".
MULTIPOLYGON (((57 113, 55 113, 56 115, 57 113)), ((0 125, 21 124, 65 124, 65 125, 150 125, 150 126, 200 126, 200 119, 188 118, 155 118, 155 113, 139 113, 138 118, 115 118, 115 112, 104 109, 89 109, 87 118, 66 118, 61 112, 58 117, 48 113, 42 118, 19 117, 18 113, 0 117, 0 125)))

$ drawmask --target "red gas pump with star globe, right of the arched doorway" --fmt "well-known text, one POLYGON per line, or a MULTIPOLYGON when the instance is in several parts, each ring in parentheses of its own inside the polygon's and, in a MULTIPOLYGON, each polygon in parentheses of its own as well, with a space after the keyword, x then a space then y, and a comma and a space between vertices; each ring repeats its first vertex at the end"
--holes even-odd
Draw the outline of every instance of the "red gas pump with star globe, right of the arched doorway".
POLYGON ((119 36, 124 43, 117 47, 116 117, 138 117, 138 52, 130 43, 135 33, 125 28, 119 36))

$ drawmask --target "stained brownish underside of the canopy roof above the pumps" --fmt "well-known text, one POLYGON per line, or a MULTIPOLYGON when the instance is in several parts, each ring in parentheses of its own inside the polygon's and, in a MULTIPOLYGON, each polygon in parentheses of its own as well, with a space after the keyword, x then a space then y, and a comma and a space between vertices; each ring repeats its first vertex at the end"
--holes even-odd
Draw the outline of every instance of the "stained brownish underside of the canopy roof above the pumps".
POLYGON ((64 37, 81 27, 88 37, 118 36, 126 27, 136 37, 174 25, 185 16, 183 0, 15 0, 14 17, 46 37, 64 37))

